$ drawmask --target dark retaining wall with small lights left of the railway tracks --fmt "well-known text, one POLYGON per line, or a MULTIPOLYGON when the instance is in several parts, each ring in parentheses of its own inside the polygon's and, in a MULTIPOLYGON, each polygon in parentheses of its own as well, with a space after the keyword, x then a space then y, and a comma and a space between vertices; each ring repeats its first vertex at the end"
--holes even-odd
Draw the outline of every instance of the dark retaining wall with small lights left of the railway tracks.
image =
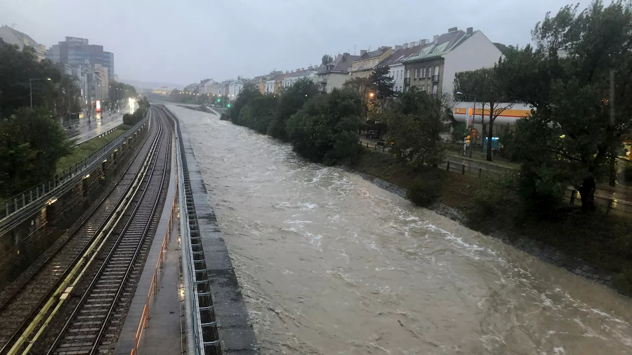
POLYGON ((85 212, 96 207, 93 203, 103 198, 107 188, 125 171, 145 139, 147 128, 146 123, 135 132, 125 133, 131 133, 125 144, 112 147, 84 178, 69 183, 70 188, 52 197, 48 205, 20 216, 21 222, 0 236, 0 289, 15 280, 64 232, 70 233, 77 227, 85 212))

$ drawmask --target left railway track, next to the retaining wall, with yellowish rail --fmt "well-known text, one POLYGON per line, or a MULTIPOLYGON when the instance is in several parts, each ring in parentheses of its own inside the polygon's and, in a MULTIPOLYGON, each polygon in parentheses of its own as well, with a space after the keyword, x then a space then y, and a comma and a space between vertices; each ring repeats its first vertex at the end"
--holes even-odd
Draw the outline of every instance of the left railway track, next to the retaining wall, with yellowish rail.
MULTIPOLYGON (((150 110, 150 116, 155 116, 155 114, 155 111, 150 110)), ((154 123, 158 123, 157 120, 154 121, 154 123)), ((20 284, 9 285, 8 288, 10 289, 5 290, 6 292, 3 291, 4 298, 0 299, 0 323, 2 325, 0 327, 0 354, 17 354, 20 353, 23 344, 27 343, 29 348, 33 345, 32 337, 35 336, 37 339, 37 336, 40 335, 40 332, 35 333, 34 330, 40 323, 44 322, 51 311, 54 313, 55 310, 52 306, 56 300, 64 298, 64 295, 68 296, 66 287, 69 283, 66 281, 69 277, 75 277, 76 275, 73 274, 76 274, 80 266, 88 262, 87 256, 94 251, 94 243, 97 239, 103 238, 106 232, 112 230, 112 218, 120 213, 119 210, 121 210, 123 203, 132 202, 133 199, 128 199, 131 190, 134 188, 139 190, 140 185, 150 185, 150 181, 154 181, 152 174, 154 168, 149 169, 149 166, 155 165, 154 163, 160 155, 159 147, 164 146, 162 144, 164 132, 162 132, 161 126, 162 124, 152 124, 145 142, 142 147, 138 148, 135 157, 131 159, 118 183, 85 217, 82 223, 70 232, 70 236, 56 246, 56 250, 42 263, 41 267, 20 284), (157 127, 154 128, 154 126, 157 127), (143 167, 146 169, 143 170, 143 167), (144 174, 147 174, 149 170, 151 172, 147 178, 142 179, 139 183, 138 178, 143 171, 144 174)), ((164 170, 164 165, 162 169, 164 170)), ((162 171, 161 179, 164 179, 164 171, 162 171)), ((150 200, 154 200, 155 204, 157 198, 150 190, 155 189, 143 188, 140 194, 147 195, 150 200)), ((137 205, 140 206, 140 202, 142 202, 142 198, 136 198, 137 205)), ((121 217, 123 215, 119 216, 119 220, 121 217)), ((147 223, 150 220, 152 219, 145 218, 147 223)), ((81 275, 83 272, 79 276, 81 275)), ((85 275, 84 278, 88 278, 88 275, 85 275)), ((44 324, 48 322, 49 320, 46 320, 44 324)))

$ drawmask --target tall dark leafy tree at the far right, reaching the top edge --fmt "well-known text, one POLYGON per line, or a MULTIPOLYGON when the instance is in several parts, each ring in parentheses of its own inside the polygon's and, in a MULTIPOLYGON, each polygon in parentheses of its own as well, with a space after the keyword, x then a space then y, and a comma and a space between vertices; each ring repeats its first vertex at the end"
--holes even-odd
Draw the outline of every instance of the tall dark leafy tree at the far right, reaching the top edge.
POLYGON ((632 3, 565 6, 532 35, 535 47, 509 50, 496 68, 509 99, 535 107, 511 154, 533 186, 558 196, 556 186, 574 186, 593 210, 596 183, 632 129, 632 3))

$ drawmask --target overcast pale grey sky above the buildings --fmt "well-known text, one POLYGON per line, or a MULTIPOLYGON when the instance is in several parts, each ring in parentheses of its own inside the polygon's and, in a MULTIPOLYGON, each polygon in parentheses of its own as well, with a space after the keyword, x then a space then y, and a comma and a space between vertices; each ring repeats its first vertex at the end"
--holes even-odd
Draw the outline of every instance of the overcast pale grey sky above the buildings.
MULTIPOLYGON (((114 52, 121 80, 180 85, 319 64, 322 54, 474 27, 524 45, 569 0, 2 0, 0 24, 50 47, 83 37, 114 52)), ((585 2, 583 2, 585 3, 585 2)))

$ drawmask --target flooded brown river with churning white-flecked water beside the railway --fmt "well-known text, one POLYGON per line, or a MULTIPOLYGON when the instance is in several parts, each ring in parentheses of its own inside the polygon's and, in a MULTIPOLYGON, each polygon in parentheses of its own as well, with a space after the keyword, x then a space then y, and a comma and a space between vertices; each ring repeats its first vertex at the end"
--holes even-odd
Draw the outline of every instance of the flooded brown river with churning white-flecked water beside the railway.
POLYGON ((632 301, 217 116, 182 119, 264 354, 632 354, 632 301))

